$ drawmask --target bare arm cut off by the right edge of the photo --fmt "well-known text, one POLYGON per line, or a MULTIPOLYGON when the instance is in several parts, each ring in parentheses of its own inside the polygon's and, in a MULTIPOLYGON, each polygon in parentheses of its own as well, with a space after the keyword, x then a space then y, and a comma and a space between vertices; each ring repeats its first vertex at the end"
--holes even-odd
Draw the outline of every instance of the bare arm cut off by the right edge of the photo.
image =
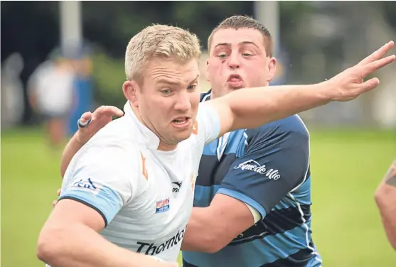
POLYGON ((387 239, 396 250, 396 160, 375 191, 375 202, 380 210, 387 239))

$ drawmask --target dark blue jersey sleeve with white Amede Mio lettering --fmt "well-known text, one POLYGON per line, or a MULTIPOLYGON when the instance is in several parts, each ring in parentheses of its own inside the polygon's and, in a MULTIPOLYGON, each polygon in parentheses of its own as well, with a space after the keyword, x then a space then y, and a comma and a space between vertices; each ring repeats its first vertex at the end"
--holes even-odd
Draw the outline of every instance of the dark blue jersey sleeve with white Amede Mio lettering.
POLYGON ((218 193, 245 202, 264 218, 282 197, 306 179, 309 133, 274 122, 247 131, 245 155, 237 158, 218 193))

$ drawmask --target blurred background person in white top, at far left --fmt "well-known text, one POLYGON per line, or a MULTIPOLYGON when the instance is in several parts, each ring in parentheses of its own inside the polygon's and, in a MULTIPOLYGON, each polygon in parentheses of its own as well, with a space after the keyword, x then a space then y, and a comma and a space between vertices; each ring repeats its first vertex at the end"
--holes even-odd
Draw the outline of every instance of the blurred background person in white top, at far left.
POLYGON ((74 89, 73 65, 60 56, 43 62, 28 80, 29 102, 44 120, 49 143, 53 148, 64 145, 74 89))

